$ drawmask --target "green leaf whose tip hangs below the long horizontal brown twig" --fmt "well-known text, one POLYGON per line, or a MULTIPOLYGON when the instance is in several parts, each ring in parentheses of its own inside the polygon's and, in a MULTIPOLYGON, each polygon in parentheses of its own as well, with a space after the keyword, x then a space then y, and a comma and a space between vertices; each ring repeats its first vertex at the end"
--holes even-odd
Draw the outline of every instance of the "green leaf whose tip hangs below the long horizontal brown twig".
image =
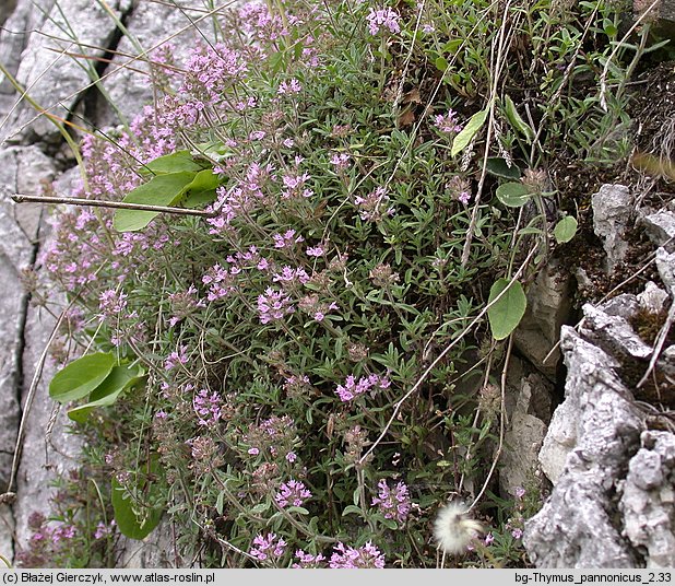
MULTIPOLYGON (((194 179, 194 173, 180 172, 156 175, 146 184, 140 185, 127 194, 125 203, 143 203, 147 206, 171 206, 182 194, 186 186, 194 179)), ((118 232, 143 230, 159 212, 139 210, 117 210, 112 226, 118 232)))

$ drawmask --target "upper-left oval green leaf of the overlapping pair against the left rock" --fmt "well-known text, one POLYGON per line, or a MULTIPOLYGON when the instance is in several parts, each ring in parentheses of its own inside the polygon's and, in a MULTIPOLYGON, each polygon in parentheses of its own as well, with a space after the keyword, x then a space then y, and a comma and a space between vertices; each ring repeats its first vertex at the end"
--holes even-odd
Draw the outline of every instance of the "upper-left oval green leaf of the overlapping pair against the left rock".
POLYGON ((110 374, 115 356, 99 352, 78 359, 54 375, 49 396, 60 403, 86 397, 110 374))

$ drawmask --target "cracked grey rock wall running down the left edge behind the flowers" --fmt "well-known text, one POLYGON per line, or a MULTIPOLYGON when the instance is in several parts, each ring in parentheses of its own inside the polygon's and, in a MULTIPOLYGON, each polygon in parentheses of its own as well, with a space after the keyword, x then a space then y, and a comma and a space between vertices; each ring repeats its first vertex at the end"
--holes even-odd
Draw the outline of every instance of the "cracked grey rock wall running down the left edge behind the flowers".
MULTIPOLYGON (((58 120, 112 126, 120 117, 131 120, 152 99, 149 77, 134 71, 147 71, 145 50, 173 38, 177 54, 185 56, 197 35, 191 22, 203 14, 132 0, 5 2, 0 7, 2 65, 28 90, 34 104, 58 120), (108 107, 93 85, 98 77, 116 108, 108 107)), ((206 28, 208 19, 203 22, 206 28)), ((27 543, 28 516, 49 512, 52 481, 75 464, 80 448, 68 432, 68 419, 54 410, 47 394, 54 365, 44 354, 56 319, 29 305, 22 284, 22 271, 36 267, 47 244, 46 209, 10 200, 17 192, 39 194, 45 183, 55 180, 57 195, 70 195, 78 172, 68 171, 74 161, 61 149, 57 127, 19 97, 9 78, 0 74, 0 494, 8 491, 23 421, 19 468, 9 488, 16 500, 11 506, 0 504, 0 554, 9 559, 27 543)), ((71 127, 69 131, 75 133, 71 127)), ((167 551, 166 536, 156 537, 152 548, 129 543, 123 563, 170 565, 166 555, 161 558, 167 551)))

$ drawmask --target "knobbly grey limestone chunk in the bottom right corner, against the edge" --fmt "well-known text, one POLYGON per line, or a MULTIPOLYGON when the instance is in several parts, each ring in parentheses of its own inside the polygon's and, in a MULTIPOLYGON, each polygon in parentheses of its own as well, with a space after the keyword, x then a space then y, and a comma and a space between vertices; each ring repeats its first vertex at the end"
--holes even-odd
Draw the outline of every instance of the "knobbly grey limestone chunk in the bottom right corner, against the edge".
POLYGON ((624 534, 647 567, 675 567, 675 435, 643 432, 641 444, 621 490, 624 534))

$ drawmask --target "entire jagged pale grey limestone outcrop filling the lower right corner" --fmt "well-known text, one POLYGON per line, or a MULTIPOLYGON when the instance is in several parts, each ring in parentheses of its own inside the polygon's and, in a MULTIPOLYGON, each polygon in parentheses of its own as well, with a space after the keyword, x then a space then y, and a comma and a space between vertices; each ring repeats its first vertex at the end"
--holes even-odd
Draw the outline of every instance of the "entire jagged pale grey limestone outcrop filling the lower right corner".
MULTIPOLYGON (((671 285, 675 255, 660 249, 656 258, 662 281, 671 285)), ((654 351, 630 319, 639 309, 661 310, 664 295, 651 283, 639 296, 585 305, 578 331, 562 328, 566 398, 540 453, 554 489, 528 521, 524 538, 540 567, 673 564, 674 426, 665 411, 636 399, 635 382, 624 380, 635 367, 646 371, 654 351), (667 431, 650 431, 650 424, 667 431)), ((674 351, 666 349, 658 371, 674 351)))

